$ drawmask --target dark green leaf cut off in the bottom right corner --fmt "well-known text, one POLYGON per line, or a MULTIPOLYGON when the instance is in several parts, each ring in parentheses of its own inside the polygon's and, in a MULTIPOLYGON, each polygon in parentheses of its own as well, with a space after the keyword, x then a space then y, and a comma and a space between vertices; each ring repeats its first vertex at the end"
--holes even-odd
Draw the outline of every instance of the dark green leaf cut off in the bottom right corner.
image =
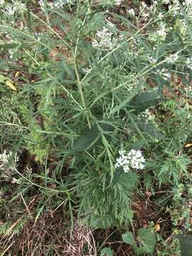
POLYGON ((192 235, 176 235, 179 239, 180 250, 182 256, 192 255, 192 235))

